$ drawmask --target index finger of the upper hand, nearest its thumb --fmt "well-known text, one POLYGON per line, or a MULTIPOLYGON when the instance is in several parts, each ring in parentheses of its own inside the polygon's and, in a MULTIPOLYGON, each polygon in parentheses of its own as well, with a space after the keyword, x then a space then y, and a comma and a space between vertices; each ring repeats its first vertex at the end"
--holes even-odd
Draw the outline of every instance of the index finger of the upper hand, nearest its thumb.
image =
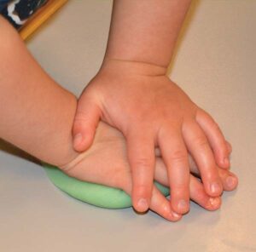
POLYGON ((154 180, 154 138, 139 130, 126 136, 128 160, 132 175, 132 205, 144 212, 150 205, 154 180))

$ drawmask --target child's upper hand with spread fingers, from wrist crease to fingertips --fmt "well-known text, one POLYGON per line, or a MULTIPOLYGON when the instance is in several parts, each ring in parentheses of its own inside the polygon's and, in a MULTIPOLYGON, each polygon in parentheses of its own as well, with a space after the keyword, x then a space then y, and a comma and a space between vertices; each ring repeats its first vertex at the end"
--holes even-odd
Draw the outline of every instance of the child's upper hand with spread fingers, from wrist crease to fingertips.
POLYGON ((79 99, 73 124, 74 148, 83 151, 90 146, 100 118, 119 129, 127 140, 132 203, 144 211, 152 194, 154 147, 159 146, 172 187, 172 208, 183 214, 189 210, 188 151, 212 197, 223 191, 214 156, 225 168, 229 167, 229 156, 224 136, 212 117, 165 72, 160 66, 105 61, 79 99))

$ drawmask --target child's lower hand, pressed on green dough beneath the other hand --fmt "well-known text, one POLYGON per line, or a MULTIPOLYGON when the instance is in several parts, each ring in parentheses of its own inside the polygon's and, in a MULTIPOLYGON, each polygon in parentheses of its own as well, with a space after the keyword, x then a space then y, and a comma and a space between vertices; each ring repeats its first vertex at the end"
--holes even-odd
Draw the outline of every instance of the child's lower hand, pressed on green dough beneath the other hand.
MULTIPOLYGON (((157 152, 156 155, 159 156, 160 153, 157 152)), ((198 174, 198 169, 190 156, 189 166, 195 174, 198 174)), ((127 160, 125 138, 117 129, 113 129, 106 123, 99 124, 92 146, 61 169, 67 175, 79 180, 117 187, 131 195, 131 168, 127 160)), ((232 175, 225 169, 218 168, 218 172, 224 189, 234 190, 237 185, 236 175, 232 175), (234 183, 230 184, 232 180, 234 183)), ((154 179, 166 186, 169 184, 165 164, 159 157, 156 158, 154 179)), ((189 193, 190 198, 205 209, 216 210, 220 207, 220 198, 209 197, 200 180, 193 175, 189 178, 189 193)), ((169 221, 178 221, 182 217, 173 211, 171 204, 155 186, 149 207, 169 221)))

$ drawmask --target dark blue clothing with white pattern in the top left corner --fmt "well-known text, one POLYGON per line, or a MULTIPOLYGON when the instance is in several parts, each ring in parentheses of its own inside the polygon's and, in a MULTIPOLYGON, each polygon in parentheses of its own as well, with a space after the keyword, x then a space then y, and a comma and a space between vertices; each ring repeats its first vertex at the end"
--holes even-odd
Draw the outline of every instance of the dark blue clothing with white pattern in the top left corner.
POLYGON ((20 29, 48 0, 0 0, 0 14, 20 29))

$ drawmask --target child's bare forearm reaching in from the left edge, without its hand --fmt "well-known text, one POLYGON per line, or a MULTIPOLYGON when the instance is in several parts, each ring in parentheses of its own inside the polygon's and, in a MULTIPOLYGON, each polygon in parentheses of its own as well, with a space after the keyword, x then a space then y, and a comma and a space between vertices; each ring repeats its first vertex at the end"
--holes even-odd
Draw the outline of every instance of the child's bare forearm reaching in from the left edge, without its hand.
POLYGON ((1 16, 0 34, 0 137, 45 162, 70 162, 76 98, 38 66, 1 16))

